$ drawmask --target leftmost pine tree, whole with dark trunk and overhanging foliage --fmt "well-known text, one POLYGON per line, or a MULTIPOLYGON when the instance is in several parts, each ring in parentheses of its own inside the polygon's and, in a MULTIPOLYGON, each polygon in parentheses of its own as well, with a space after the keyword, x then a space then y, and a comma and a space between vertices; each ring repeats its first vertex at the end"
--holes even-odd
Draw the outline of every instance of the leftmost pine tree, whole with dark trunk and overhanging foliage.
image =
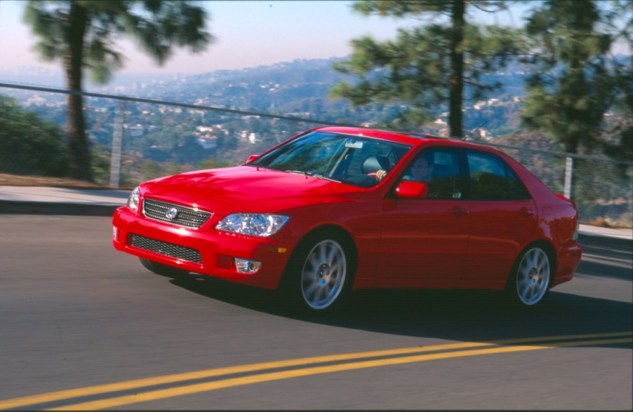
POLYGON ((159 64, 175 46, 198 52, 211 41, 204 9, 189 1, 30 0, 24 18, 39 37, 36 50, 41 56, 62 62, 70 92, 69 175, 87 181, 92 177, 81 95, 84 70, 95 83, 106 83, 123 66, 123 57, 114 48, 121 36, 135 39, 159 64))

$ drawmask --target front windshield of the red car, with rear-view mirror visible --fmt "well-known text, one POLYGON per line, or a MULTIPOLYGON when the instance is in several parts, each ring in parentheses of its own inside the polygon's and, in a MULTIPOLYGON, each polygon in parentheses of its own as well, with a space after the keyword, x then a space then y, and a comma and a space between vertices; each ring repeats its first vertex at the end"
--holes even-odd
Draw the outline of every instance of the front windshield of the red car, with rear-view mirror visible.
POLYGON ((248 165, 307 174, 354 186, 378 184, 378 170, 390 172, 411 146, 332 132, 310 132, 248 165))

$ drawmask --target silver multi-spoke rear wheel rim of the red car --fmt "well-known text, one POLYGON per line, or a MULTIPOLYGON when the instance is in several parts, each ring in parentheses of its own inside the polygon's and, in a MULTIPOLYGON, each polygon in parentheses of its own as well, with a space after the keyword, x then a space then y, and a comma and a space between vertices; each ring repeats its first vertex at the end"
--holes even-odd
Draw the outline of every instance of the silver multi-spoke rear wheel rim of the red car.
POLYGON ((514 293, 519 301, 526 306, 542 301, 549 287, 550 276, 547 253, 540 247, 528 249, 521 256, 514 275, 514 293))

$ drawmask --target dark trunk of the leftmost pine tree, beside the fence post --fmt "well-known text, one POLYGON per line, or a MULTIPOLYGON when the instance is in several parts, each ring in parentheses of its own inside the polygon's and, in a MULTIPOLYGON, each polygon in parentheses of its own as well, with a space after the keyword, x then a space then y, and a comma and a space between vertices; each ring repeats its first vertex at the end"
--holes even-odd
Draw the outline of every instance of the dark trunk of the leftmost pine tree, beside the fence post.
POLYGON ((71 92, 67 96, 67 132, 69 135, 69 175, 75 179, 92 181, 91 158, 86 137, 84 98, 81 95, 81 69, 84 60, 84 36, 88 13, 86 8, 72 1, 65 35, 69 48, 64 55, 66 83, 71 92))

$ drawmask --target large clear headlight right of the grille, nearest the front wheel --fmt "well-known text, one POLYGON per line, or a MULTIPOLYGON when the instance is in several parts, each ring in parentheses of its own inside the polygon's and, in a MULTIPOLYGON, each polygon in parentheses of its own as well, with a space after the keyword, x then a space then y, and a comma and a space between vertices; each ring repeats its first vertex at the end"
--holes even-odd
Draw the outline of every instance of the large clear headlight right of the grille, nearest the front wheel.
POLYGON ((279 214, 234 213, 222 219, 215 228, 218 231, 267 238, 277 233, 288 219, 287 216, 279 214))

